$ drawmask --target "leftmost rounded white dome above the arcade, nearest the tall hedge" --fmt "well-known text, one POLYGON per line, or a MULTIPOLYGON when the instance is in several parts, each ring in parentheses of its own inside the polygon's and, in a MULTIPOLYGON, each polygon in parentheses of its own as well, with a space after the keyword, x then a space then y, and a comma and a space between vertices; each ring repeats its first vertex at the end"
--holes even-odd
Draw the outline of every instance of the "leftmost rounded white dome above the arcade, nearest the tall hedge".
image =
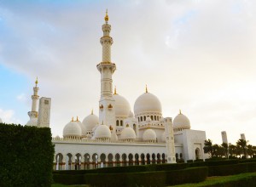
POLYGON ((82 135, 82 129, 78 122, 68 122, 63 128, 63 137, 76 137, 80 138, 82 135))

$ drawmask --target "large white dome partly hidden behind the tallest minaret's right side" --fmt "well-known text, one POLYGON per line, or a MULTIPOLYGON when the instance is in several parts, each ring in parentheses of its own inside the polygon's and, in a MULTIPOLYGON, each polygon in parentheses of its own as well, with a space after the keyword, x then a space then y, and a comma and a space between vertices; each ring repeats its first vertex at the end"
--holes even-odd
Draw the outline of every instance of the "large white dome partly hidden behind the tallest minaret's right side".
POLYGON ((119 94, 113 94, 114 105, 115 105, 115 116, 129 116, 131 106, 129 102, 119 94))

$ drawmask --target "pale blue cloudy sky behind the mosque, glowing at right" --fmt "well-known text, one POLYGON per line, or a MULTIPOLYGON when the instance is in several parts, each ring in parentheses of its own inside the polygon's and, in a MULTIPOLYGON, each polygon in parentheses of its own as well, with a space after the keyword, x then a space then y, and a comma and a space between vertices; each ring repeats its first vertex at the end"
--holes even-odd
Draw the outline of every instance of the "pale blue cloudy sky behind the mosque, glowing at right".
POLYGON ((0 0, 0 117, 26 124, 32 88, 52 99, 50 127, 98 115, 102 24, 108 8, 113 85, 131 105, 156 95, 163 116, 182 110, 213 144, 226 131, 256 144, 254 0, 0 0))

